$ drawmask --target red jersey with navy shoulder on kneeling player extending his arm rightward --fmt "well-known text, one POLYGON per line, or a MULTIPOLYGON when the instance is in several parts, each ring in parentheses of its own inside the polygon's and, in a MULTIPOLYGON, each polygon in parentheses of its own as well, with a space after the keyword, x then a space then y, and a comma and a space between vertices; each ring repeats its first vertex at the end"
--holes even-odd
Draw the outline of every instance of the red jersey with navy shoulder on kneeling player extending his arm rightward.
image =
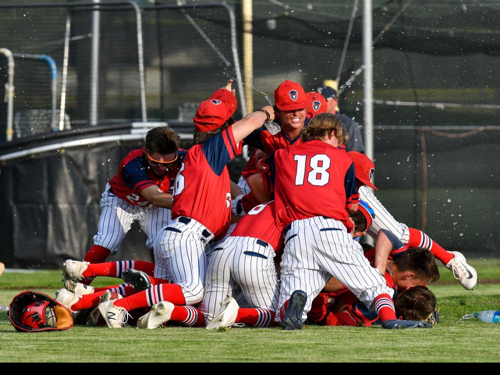
POLYGON ((226 164, 241 153, 232 125, 192 146, 184 157, 173 188, 172 218, 190 217, 222 237, 231 218, 231 193, 226 164))

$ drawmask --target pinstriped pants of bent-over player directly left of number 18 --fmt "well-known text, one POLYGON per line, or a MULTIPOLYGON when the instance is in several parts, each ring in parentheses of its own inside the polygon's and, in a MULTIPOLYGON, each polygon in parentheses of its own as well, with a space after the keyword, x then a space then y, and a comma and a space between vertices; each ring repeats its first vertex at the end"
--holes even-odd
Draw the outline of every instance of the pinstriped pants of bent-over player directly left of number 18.
POLYGON ((274 249, 252 237, 228 237, 214 247, 206 272, 203 300, 198 308, 211 320, 219 313, 226 295, 236 299, 242 292, 249 307, 277 310, 279 280, 274 249))

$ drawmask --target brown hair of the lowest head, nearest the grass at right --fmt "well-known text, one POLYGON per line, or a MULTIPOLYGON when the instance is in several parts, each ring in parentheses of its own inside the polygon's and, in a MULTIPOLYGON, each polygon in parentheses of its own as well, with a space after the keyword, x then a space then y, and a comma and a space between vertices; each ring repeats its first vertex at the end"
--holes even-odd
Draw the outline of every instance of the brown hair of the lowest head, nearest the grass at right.
POLYGON ((436 307, 436 296, 425 286, 413 286, 397 293, 394 300, 396 316, 403 320, 425 320, 436 307))

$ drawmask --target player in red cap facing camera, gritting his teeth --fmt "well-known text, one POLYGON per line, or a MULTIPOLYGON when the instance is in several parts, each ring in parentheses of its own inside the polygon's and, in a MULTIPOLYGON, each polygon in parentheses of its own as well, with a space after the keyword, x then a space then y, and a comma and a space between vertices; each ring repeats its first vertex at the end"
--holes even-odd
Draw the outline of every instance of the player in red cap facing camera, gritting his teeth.
POLYGON ((310 106, 310 100, 305 95, 304 89, 296 82, 285 80, 274 90, 275 122, 266 121, 263 126, 252 131, 244 139, 244 143, 255 147, 255 150, 238 181, 243 194, 250 192, 245 179, 257 173, 255 163, 262 157, 255 157, 257 150, 260 149, 268 155, 272 151, 300 142, 298 133, 309 120, 307 108, 310 106))

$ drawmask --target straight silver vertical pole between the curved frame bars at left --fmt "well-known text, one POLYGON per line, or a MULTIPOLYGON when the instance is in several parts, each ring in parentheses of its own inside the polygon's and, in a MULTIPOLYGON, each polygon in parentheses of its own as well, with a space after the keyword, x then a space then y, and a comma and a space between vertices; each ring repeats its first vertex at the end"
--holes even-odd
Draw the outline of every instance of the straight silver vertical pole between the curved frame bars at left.
MULTIPOLYGON (((100 0, 92 0, 99 3, 100 0)), ((98 9, 99 7, 95 7, 98 9)), ((90 47, 90 97, 88 99, 88 123, 97 125, 97 111, 99 105, 99 42, 100 42, 100 12, 92 10, 92 41, 90 47)))

